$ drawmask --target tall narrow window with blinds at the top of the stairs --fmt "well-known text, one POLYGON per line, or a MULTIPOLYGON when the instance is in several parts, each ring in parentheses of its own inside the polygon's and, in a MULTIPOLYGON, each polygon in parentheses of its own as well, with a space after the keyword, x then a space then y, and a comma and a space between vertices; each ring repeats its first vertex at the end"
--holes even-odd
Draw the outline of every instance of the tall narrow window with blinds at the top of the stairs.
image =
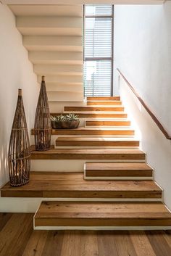
POLYGON ((86 5, 84 13, 84 94, 112 96, 114 7, 86 5))

